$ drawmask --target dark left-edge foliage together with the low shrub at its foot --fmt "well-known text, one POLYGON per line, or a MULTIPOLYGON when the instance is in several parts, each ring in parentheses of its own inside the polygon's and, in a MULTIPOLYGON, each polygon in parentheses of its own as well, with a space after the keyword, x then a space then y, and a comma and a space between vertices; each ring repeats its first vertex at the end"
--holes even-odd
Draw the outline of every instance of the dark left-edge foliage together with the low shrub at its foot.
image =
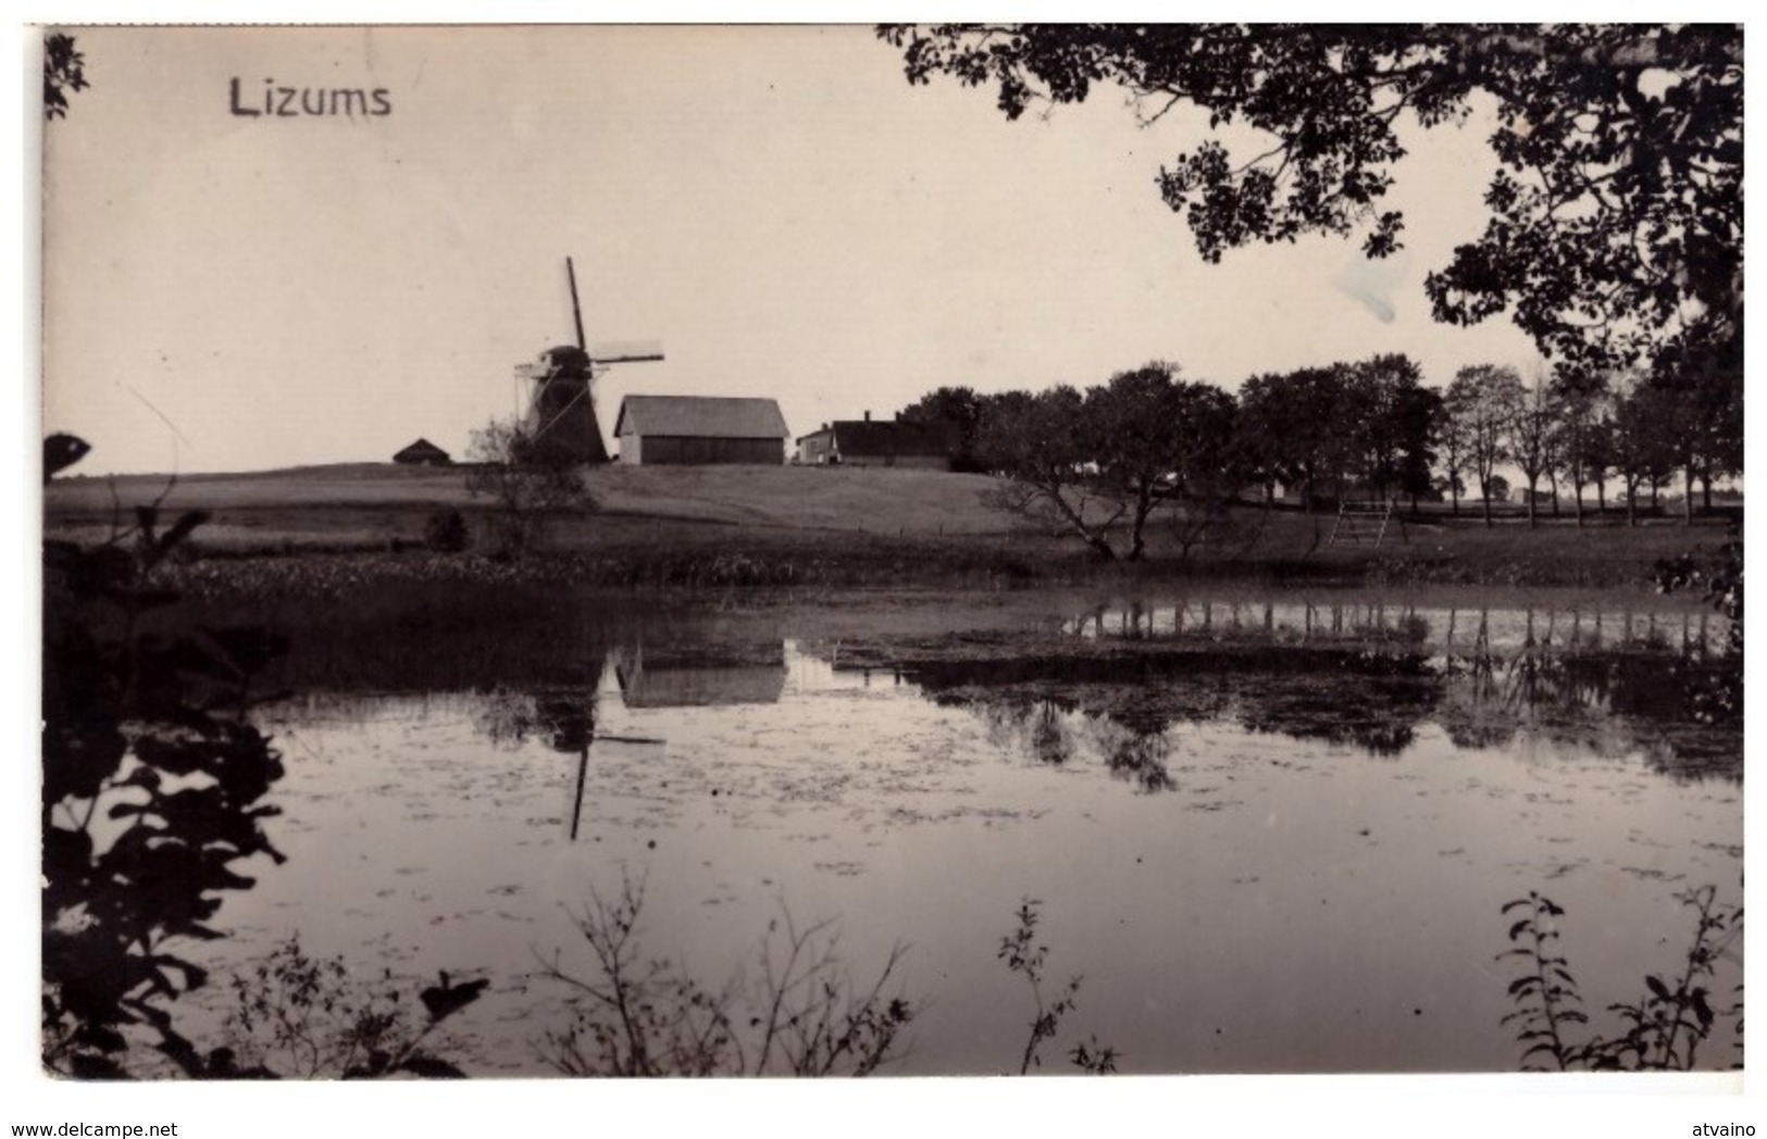
MULTIPOLYGON (((49 436, 46 477, 88 450, 49 436)), ((127 1077, 145 1033, 201 1079, 458 1075, 421 1044, 486 982, 444 975, 412 1026, 396 991, 375 994, 297 941, 231 978, 228 1044, 203 1051, 173 1021, 171 1001, 209 984, 180 941, 223 936, 209 922, 224 892, 253 886, 239 864, 283 862, 263 830, 283 763, 247 713, 253 676, 286 643, 258 627, 186 629, 157 581, 205 519, 161 530, 152 503, 102 546, 44 542, 44 1065, 127 1077)))

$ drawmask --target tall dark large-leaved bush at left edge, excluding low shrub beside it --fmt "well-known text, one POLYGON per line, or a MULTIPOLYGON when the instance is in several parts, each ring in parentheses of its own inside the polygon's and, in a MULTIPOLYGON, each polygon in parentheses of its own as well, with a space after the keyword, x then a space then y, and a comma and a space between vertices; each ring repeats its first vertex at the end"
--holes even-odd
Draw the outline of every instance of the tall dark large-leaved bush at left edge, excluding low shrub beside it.
POLYGON ((262 802, 281 758, 246 715, 251 678, 281 639, 155 623, 177 600, 155 569, 203 521, 187 512, 161 530, 155 503, 94 549, 44 542, 42 1056, 53 1072, 125 1075, 127 1033, 145 1030, 201 1075, 166 1003, 207 975, 177 947, 221 936, 209 920, 223 894, 253 885, 239 864, 283 860, 263 830, 277 811, 262 802))

